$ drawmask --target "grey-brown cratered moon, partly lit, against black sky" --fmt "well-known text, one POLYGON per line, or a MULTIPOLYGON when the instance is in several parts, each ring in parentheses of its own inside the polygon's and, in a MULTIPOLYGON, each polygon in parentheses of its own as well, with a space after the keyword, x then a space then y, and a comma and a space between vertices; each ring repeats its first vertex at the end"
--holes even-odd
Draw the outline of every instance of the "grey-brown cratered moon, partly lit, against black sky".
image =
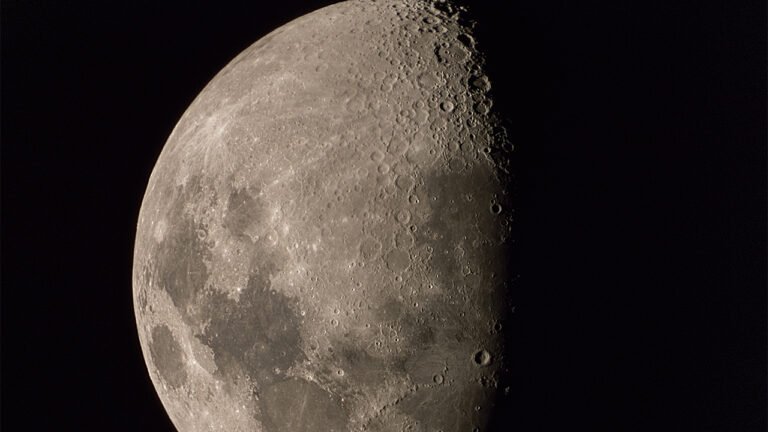
POLYGON ((465 16, 318 10, 184 113, 133 267, 180 431, 492 428, 512 385, 512 149, 465 16))

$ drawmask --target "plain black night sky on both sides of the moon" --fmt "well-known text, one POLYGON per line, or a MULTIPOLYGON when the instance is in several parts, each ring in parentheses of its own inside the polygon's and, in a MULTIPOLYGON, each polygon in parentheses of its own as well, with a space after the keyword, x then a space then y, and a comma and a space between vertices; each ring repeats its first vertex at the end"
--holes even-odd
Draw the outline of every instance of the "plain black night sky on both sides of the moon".
MULTIPOLYGON (((331 2, 159 3, 0 4, 3 430, 172 430, 132 310, 150 171, 331 2)), ((517 149, 508 430, 765 431, 765 3, 473 6, 517 149)))

